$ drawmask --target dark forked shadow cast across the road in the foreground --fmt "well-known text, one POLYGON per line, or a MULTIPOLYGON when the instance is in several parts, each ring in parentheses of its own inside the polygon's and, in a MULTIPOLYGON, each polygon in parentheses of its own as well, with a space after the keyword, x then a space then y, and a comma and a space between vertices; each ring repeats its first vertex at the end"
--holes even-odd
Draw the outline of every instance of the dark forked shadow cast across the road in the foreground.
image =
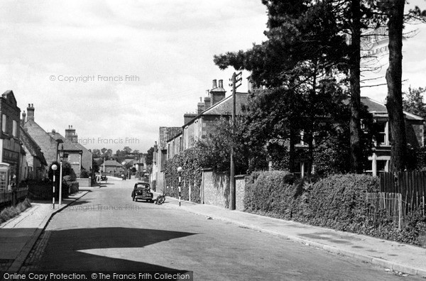
POLYGON ((195 235, 180 231, 162 231, 143 228, 82 228, 50 231, 48 245, 39 262, 34 264, 38 270, 126 270, 139 271, 179 271, 151 263, 141 263, 126 259, 139 255, 145 259, 148 255, 161 255, 141 248, 195 235), (126 248, 116 253, 116 248, 126 248), (131 248, 134 248, 131 249, 131 248), (135 252, 138 251, 138 252, 135 252), (127 254, 128 253, 128 254, 127 254), (111 258, 112 256, 112 258, 111 258), (119 256, 120 258, 117 258, 119 256))

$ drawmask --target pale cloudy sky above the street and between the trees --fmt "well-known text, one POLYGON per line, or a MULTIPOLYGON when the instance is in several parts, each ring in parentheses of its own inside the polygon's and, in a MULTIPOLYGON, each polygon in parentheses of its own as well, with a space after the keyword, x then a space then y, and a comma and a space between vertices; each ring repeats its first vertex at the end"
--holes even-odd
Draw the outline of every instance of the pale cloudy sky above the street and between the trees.
MULTIPOLYGON (((21 111, 33 104, 45 131, 72 125, 87 148, 146 152, 160 126, 196 111, 213 79, 230 94, 234 70, 213 55, 266 40, 266 21, 261 0, 1 1, 0 92, 13 90, 21 111)), ((417 35, 404 41, 404 89, 426 87, 426 28, 407 29, 417 35)), ((384 101, 386 86, 362 94, 384 101)))

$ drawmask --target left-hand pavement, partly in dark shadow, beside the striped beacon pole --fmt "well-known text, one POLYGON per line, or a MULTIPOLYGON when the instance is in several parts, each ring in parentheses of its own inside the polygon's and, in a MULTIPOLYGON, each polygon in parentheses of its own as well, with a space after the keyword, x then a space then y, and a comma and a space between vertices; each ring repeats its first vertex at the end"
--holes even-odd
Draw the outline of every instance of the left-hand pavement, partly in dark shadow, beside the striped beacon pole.
POLYGON ((56 202, 55 209, 51 201, 32 202, 31 208, 0 224, 0 272, 18 272, 52 216, 87 192, 80 191, 62 199, 61 206, 56 202))

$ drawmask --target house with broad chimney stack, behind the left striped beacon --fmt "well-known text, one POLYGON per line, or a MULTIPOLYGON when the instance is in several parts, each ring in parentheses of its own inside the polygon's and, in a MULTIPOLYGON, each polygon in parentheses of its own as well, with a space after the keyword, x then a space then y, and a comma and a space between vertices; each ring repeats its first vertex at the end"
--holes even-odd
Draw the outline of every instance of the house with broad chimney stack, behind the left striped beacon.
POLYGON ((52 130, 49 135, 55 140, 62 140, 58 153, 63 152, 62 159, 70 162, 72 170, 74 170, 77 177, 80 177, 82 170, 87 170, 87 172, 92 170, 93 154, 78 142, 77 133, 75 128, 72 128, 72 125, 65 129, 65 137, 55 130, 52 130))

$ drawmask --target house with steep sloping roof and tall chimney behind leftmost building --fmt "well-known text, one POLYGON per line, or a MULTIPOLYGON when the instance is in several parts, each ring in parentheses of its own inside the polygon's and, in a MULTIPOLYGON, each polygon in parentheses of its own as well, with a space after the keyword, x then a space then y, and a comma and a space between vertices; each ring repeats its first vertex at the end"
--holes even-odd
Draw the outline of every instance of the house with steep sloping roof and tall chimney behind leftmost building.
POLYGON ((23 129, 28 133, 29 136, 35 143, 37 143, 40 148, 45 161, 48 163, 46 169, 58 160, 58 145, 61 142, 57 138, 53 138, 49 133, 43 130, 34 119, 34 106, 33 104, 28 104, 27 113, 23 112, 23 129))

